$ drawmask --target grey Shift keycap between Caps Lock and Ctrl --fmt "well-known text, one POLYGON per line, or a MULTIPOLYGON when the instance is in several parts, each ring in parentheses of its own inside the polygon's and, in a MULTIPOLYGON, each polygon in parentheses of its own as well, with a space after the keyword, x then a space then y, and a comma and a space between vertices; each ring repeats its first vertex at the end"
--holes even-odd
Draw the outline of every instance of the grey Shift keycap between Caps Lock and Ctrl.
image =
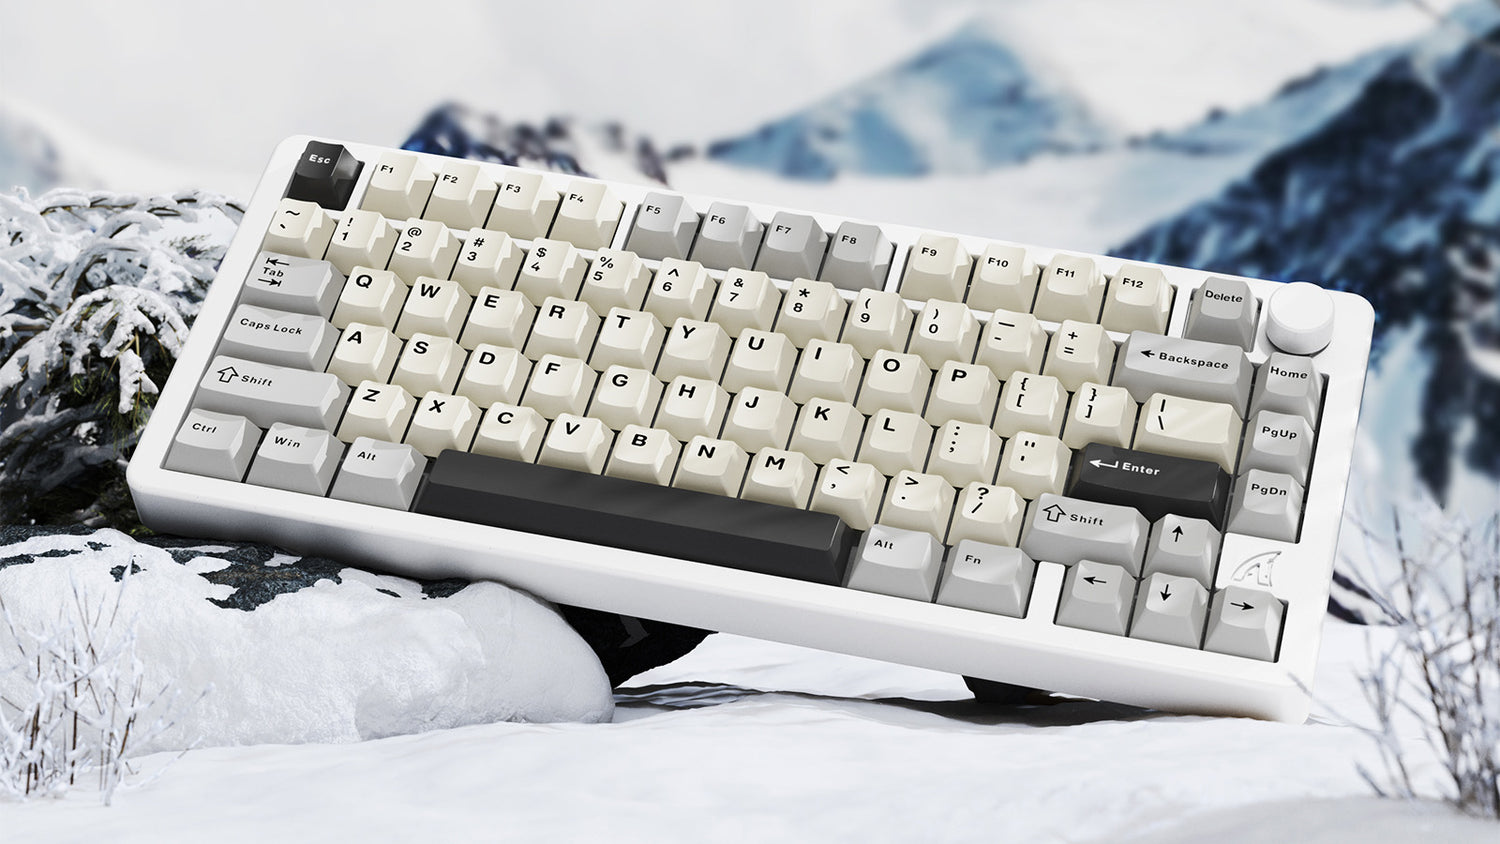
POLYGON ((261 427, 291 423, 333 430, 350 400, 336 375, 218 355, 198 382, 198 406, 238 414, 261 427))

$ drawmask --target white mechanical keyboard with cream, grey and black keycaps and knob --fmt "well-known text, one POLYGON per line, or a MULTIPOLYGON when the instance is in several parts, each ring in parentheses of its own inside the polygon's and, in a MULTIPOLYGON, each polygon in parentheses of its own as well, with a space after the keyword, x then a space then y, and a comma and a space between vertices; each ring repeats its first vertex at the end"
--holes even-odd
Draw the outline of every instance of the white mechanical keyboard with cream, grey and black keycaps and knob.
POLYGON ((312 138, 129 481, 159 531, 1300 721, 1352 294, 312 138))

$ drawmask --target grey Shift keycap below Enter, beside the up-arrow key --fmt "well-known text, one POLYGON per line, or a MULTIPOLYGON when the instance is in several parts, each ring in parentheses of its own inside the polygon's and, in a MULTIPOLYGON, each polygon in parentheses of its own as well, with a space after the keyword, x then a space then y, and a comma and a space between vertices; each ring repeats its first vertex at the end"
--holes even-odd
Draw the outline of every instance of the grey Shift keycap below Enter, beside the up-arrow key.
POLYGON ((1065 498, 1050 492, 1032 504, 1022 550, 1035 561, 1074 565, 1082 559, 1120 565, 1134 577, 1150 523, 1132 507, 1065 498))

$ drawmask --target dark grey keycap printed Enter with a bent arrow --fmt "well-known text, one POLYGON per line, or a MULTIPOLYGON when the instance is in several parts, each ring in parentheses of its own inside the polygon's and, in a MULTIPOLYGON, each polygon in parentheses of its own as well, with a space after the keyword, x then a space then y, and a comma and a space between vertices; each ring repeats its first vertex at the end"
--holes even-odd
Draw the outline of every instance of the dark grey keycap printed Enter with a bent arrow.
POLYGON ((1072 465, 1066 495, 1134 507, 1152 522, 1176 513, 1222 529, 1228 492, 1218 463, 1092 442, 1072 465))

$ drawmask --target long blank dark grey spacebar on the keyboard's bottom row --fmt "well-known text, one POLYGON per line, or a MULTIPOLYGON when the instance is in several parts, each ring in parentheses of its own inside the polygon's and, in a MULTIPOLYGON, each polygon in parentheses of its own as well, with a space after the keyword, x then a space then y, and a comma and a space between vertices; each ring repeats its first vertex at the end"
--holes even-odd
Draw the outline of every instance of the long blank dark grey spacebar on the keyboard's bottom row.
POLYGON ((438 456, 411 508, 836 586, 858 538, 826 513, 466 451, 438 456))

